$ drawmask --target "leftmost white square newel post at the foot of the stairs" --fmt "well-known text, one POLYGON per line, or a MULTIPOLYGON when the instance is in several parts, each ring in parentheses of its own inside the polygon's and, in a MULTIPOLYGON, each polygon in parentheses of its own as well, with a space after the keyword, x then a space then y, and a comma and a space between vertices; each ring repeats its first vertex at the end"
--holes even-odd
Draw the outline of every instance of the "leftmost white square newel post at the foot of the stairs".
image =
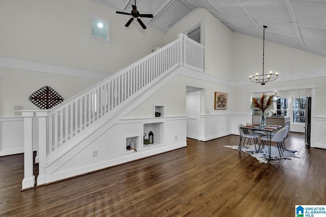
POLYGON ((35 186, 33 175, 33 117, 34 111, 22 110, 24 118, 24 178, 21 182, 21 190, 35 186))

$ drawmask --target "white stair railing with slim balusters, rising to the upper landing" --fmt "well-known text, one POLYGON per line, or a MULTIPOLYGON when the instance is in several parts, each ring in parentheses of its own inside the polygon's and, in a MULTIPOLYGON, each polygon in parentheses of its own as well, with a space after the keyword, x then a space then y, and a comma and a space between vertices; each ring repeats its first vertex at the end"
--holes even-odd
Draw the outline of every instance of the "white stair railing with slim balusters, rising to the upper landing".
POLYGON ((204 47, 179 34, 177 40, 49 110, 46 121, 47 154, 107 113, 119 109, 121 103, 162 77, 169 69, 181 65, 203 71, 203 58, 204 47))

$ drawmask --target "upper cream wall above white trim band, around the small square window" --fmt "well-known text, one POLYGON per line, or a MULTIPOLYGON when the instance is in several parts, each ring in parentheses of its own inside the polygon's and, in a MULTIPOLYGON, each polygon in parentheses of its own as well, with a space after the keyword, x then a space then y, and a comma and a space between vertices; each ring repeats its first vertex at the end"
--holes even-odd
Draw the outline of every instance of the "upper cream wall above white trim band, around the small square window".
POLYGON ((0 55, 115 73, 161 46, 164 34, 90 0, 2 1, 0 55), (112 43, 88 37, 90 15, 112 22, 112 43), (123 57, 123 58, 122 58, 123 57))

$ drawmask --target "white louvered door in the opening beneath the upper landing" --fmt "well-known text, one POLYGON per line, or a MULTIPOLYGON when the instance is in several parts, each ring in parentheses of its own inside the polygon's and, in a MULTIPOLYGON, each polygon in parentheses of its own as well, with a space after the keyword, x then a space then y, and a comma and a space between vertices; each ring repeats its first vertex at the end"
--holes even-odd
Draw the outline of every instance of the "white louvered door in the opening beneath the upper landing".
MULTIPOLYGON (((188 87, 187 87, 188 89, 188 87)), ((200 127, 200 90, 187 91, 186 93, 186 112, 187 112, 187 133, 188 138, 199 138, 200 127)))

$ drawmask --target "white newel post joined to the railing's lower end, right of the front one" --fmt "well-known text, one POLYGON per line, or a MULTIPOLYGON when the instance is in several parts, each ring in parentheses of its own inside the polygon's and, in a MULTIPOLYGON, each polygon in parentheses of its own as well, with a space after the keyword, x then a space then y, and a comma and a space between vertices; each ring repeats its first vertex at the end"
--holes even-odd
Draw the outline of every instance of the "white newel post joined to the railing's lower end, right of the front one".
POLYGON ((39 122, 39 175, 37 185, 46 183, 46 117, 47 110, 36 112, 39 122))

